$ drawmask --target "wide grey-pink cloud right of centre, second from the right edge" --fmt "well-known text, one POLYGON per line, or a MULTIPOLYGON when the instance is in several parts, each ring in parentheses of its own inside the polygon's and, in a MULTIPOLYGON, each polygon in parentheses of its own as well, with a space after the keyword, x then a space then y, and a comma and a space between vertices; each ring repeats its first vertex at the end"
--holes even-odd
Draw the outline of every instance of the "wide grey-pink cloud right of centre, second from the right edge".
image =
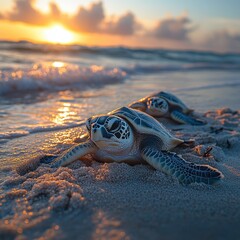
POLYGON ((193 30, 189 27, 190 23, 191 20, 187 16, 163 19, 150 34, 159 39, 186 41, 189 40, 188 35, 193 30))

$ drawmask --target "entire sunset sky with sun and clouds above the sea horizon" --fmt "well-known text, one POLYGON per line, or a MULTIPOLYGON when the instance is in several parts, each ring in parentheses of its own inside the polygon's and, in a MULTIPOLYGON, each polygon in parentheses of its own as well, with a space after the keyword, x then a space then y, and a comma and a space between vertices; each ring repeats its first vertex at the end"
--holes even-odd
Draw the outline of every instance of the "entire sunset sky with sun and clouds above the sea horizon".
POLYGON ((0 39, 240 52, 239 0, 0 0, 0 39))

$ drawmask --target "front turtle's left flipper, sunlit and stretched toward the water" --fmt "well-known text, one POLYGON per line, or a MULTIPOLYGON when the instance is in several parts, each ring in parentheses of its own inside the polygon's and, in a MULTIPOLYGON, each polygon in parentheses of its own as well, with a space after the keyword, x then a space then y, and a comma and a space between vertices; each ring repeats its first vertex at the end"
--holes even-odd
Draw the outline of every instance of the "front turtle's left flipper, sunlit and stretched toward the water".
POLYGON ((84 142, 73 146, 67 152, 64 152, 61 156, 56 158, 50 165, 51 167, 61 167, 74 162, 75 160, 87 155, 89 153, 94 153, 97 150, 97 146, 92 142, 84 142))

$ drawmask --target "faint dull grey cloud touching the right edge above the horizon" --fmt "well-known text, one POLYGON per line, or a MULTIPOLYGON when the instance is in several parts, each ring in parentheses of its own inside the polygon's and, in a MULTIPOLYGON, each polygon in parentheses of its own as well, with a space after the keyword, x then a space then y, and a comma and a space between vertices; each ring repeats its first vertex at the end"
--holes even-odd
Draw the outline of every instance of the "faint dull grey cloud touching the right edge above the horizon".
POLYGON ((240 33, 218 30, 211 33, 203 41, 207 49, 220 52, 240 52, 240 33))

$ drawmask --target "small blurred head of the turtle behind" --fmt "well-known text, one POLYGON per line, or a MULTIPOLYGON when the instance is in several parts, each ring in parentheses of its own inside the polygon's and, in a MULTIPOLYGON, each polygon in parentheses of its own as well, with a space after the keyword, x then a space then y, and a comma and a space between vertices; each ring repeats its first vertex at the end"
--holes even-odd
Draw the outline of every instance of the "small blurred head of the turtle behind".
POLYGON ((168 102, 161 97, 149 97, 147 99, 147 113, 154 117, 164 116, 169 110, 168 102))

